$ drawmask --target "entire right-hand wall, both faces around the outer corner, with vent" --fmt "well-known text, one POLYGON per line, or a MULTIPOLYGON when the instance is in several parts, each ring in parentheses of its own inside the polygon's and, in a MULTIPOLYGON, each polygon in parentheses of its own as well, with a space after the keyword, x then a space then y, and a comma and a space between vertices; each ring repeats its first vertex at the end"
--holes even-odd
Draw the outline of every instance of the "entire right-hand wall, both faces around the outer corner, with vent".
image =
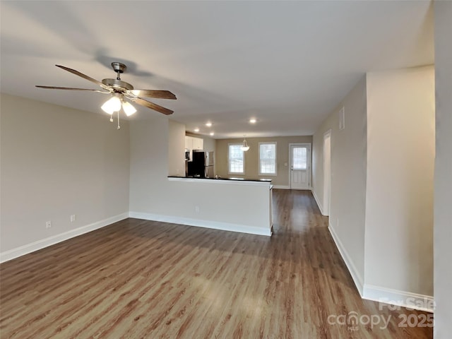
POLYGON ((330 228, 359 292, 367 299, 406 304, 414 296, 429 302, 433 67, 369 73, 323 121, 313 138, 313 192, 319 205, 328 129, 330 228), (338 129, 341 107, 344 130, 338 129))

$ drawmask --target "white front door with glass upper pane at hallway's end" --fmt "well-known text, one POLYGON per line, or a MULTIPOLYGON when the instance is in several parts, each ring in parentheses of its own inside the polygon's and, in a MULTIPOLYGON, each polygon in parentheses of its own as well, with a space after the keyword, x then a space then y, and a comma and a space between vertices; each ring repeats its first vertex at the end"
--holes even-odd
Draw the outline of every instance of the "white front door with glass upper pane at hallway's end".
POLYGON ((290 145, 290 189, 311 189, 311 144, 290 145))

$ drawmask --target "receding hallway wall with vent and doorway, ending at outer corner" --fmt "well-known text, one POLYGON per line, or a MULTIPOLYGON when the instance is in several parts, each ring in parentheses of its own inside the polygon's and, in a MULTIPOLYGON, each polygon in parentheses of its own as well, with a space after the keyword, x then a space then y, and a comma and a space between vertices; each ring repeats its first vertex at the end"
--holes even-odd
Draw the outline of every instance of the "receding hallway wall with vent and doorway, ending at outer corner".
POLYGON ((331 129, 330 230, 360 293, 364 285, 366 79, 355 85, 313 136, 313 194, 323 202, 323 134, 331 129), (345 129, 339 130, 339 110, 345 129))

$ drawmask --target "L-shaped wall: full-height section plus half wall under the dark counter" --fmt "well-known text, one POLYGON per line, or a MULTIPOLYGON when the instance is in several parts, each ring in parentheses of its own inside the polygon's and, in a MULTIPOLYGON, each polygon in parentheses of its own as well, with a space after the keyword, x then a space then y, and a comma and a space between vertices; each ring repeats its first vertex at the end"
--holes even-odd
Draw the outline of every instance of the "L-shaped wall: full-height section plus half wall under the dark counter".
POLYGON ((169 181, 169 121, 131 121, 130 129, 132 217, 270 234, 268 184, 169 181))

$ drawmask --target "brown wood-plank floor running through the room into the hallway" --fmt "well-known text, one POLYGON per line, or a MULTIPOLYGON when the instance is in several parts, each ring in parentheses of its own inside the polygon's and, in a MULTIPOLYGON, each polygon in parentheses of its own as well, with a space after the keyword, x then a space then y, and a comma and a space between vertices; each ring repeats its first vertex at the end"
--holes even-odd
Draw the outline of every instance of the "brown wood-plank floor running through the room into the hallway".
POLYGON ((1 264, 1 339, 432 338, 359 297, 309 191, 273 198, 273 237, 127 219, 1 264))

